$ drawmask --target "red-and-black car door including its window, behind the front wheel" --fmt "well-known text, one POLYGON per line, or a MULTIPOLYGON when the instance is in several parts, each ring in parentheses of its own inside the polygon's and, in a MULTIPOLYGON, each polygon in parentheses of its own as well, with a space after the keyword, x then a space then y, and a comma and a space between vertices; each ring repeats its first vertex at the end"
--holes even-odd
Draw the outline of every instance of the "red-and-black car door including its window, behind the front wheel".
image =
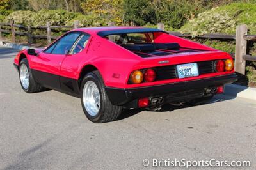
POLYGON ((79 35, 81 35, 79 32, 67 33, 33 59, 31 70, 38 83, 48 88, 60 89, 62 62, 79 35))

